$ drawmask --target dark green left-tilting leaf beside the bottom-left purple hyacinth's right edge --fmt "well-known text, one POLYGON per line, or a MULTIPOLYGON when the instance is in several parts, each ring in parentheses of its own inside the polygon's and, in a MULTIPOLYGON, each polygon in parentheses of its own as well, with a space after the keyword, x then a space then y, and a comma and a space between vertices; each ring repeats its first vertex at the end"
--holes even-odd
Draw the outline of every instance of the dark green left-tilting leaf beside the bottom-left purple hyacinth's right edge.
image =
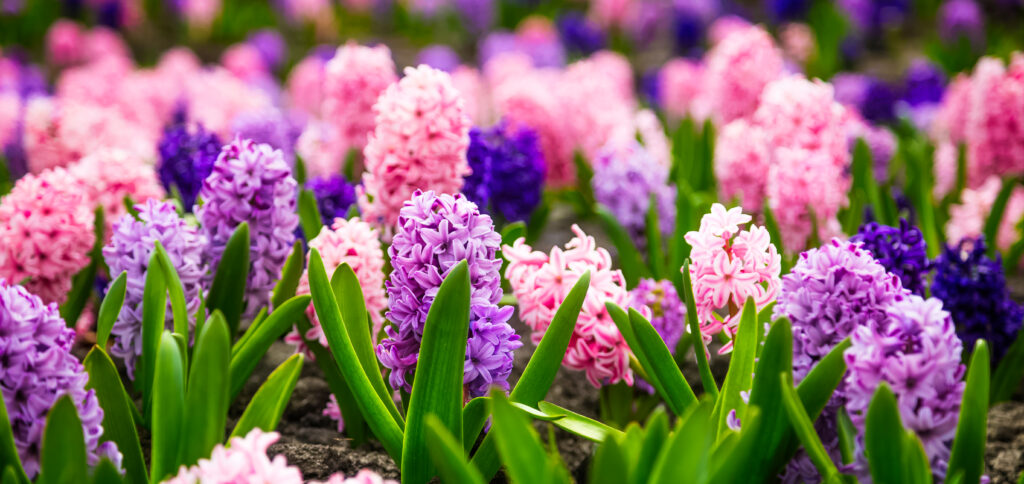
POLYGON ((122 455, 121 465, 129 482, 148 482, 138 430, 132 420, 134 403, 128 399, 117 366, 101 346, 89 350, 83 364, 89 373, 89 382, 85 388, 95 392, 99 407, 103 409, 103 435, 100 440, 117 444, 122 455))

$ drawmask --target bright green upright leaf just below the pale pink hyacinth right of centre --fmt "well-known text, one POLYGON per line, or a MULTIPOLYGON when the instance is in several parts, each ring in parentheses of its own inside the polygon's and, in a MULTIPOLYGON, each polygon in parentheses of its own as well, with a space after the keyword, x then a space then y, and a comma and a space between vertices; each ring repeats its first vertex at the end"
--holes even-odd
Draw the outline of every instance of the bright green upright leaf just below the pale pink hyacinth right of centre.
POLYGON ((758 310, 753 298, 746 298, 743 312, 739 317, 739 326, 733 338, 732 359, 729 361, 729 371, 722 384, 722 393, 715 400, 715 411, 712 419, 715 426, 712 432, 721 441, 728 430, 728 416, 731 410, 737 415, 743 414, 746 403, 739 395, 751 388, 754 379, 754 363, 758 351, 758 310))

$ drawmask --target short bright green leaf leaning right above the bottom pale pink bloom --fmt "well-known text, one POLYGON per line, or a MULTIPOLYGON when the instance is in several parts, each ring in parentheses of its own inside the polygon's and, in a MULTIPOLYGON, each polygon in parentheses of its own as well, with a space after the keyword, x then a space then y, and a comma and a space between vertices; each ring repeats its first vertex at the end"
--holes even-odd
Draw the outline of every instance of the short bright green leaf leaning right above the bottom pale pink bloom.
POLYGON ((245 437, 256 428, 270 432, 278 427, 281 415, 285 413, 288 401, 292 398, 295 383, 299 381, 302 361, 302 354, 296 353, 270 372, 242 412, 242 417, 231 431, 231 437, 245 437))

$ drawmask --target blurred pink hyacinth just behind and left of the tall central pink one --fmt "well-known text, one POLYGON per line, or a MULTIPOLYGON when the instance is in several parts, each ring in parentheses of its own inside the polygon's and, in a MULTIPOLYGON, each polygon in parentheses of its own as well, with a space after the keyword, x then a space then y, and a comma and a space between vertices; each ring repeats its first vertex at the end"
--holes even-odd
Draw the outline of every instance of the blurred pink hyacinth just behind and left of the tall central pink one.
MULTIPOLYGON (((391 51, 384 45, 367 47, 349 42, 338 48, 324 69, 324 120, 337 130, 341 143, 362 149, 375 120, 379 123, 381 117, 375 106, 378 97, 398 80, 391 51)), ((422 89, 412 84, 407 82, 406 89, 422 89)), ((393 107, 409 102, 392 99, 393 107)))

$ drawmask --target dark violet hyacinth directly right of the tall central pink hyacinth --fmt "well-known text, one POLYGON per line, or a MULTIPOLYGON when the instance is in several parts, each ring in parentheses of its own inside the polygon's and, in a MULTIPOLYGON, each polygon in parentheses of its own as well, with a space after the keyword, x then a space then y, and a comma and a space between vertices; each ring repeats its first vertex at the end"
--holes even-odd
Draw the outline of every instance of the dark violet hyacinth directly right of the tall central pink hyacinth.
POLYGON ((473 172, 462 191, 484 212, 526 220, 541 203, 545 165, 536 131, 506 123, 473 128, 466 158, 473 172))

